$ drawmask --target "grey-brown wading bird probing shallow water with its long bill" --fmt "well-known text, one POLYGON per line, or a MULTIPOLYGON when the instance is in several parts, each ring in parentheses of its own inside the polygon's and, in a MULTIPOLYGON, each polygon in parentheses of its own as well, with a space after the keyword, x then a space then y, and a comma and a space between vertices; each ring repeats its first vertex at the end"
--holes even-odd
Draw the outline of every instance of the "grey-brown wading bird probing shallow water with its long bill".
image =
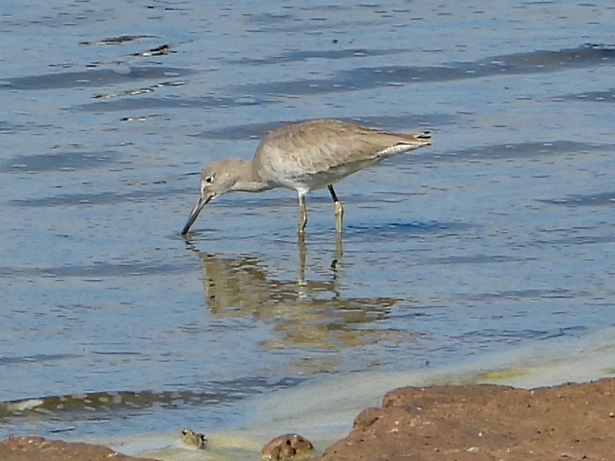
POLYGON ((276 187, 299 194, 299 234, 308 223, 305 196, 327 187, 341 233, 344 210, 333 183, 389 157, 431 144, 429 132, 402 135, 360 127, 341 120, 308 120, 277 128, 265 136, 252 160, 216 160, 200 176, 200 197, 181 234, 207 203, 231 191, 263 192, 276 187))

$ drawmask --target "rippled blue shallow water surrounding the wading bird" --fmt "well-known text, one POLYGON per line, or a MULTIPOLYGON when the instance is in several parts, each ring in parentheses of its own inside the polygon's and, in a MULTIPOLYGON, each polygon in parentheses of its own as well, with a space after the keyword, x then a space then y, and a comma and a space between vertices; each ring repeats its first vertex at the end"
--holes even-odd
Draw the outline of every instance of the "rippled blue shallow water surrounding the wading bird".
POLYGON ((6 3, 0 436, 237 428, 613 325, 615 8, 6 3), (178 235, 202 165, 317 117, 434 133, 339 183, 342 254, 326 191, 304 246, 288 191, 178 235))

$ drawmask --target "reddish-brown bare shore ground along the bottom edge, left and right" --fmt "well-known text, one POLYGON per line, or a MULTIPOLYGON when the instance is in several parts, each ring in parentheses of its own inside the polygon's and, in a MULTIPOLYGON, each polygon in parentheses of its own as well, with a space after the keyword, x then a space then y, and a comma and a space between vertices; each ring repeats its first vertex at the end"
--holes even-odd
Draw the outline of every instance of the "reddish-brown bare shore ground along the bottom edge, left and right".
MULTIPOLYGON (((398 388, 384 396, 381 407, 362 411, 346 438, 315 456, 319 460, 608 460, 615 451, 613 395, 615 379, 534 390, 486 384, 398 388)), ((114 454, 99 445, 30 436, 0 443, 0 459, 145 458, 114 454)), ((202 456, 190 459, 212 458, 205 449, 202 456)))

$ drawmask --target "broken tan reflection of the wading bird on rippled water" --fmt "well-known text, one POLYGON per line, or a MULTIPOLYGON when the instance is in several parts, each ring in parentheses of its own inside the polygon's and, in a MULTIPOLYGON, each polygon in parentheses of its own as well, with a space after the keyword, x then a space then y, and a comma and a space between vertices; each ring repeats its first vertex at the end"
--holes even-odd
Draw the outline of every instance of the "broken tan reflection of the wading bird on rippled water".
MULTIPOLYGON (((331 268, 326 269, 328 280, 306 278, 303 238, 298 242, 298 273, 293 280, 271 278, 266 264, 255 256, 229 258, 188 245, 200 257, 207 309, 216 317, 253 317, 275 323, 276 337, 265 342, 265 347, 338 350, 380 341, 405 342, 412 335, 376 325, 389 317, 399 299, 344 297, 339 283, 341 240, 331 268)), ((322 270, 317 272, 322 274, 322 270)))

